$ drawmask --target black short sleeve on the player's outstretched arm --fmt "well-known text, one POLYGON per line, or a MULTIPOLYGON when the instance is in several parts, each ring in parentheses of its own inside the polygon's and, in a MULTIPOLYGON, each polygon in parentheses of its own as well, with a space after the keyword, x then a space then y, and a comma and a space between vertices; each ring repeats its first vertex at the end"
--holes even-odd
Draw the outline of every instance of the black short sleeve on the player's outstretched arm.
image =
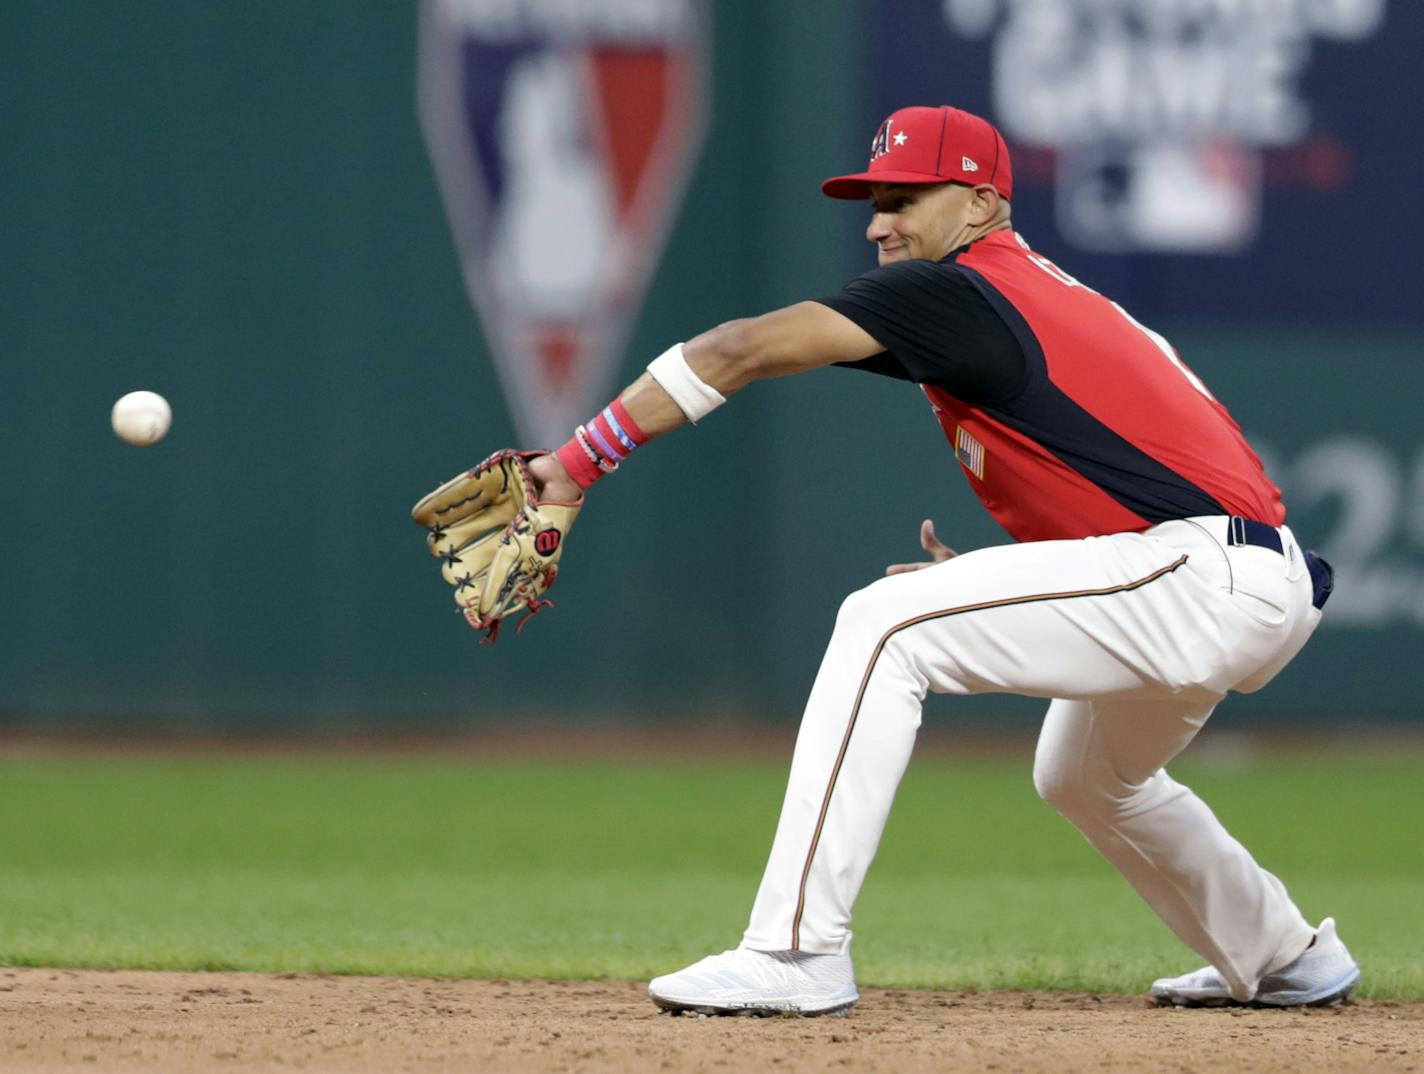
POLYGON ((1002 403, 1024 389, 1018 339, 953 259, 883 265, 817 301, 884 348, 837 363, 847 369, 934 385, 965 403, 1002 403))

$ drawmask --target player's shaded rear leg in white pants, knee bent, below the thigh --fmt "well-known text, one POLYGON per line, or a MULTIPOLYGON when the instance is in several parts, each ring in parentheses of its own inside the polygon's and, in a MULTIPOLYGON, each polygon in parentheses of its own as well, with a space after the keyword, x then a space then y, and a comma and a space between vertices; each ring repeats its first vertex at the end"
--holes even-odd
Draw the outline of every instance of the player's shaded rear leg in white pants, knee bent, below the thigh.
POLYGON ((1212 714, 1178 699, 1055 701, 1034 785, 1237 1000, 1312 942, 1284 886, 1163 771, 1212 714))

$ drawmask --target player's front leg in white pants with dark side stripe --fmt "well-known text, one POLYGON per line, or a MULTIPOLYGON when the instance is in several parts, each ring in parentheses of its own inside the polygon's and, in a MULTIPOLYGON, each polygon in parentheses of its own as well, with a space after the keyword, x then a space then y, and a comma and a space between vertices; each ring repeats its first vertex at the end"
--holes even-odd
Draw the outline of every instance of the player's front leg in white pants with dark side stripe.
POLYGON ((1230 674, 1208 637, 1219 578, 1203 564, 1141 534, 1042 541, 968 553, 847 598, 743 943, 846 950, 926 691, 1215 701, 1219 691, 1193 685, 1230 674), (1206 640, 1183 645, 1189 632, 1206 640))

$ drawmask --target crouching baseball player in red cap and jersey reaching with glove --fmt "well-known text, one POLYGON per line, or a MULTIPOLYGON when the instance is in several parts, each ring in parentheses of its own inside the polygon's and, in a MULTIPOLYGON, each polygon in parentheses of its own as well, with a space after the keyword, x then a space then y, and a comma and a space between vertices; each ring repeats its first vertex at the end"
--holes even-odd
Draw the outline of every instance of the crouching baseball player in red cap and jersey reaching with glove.
MULTIPOLYGON (((501 543, 514 551, 493 581, 466 581, 480 593, 467 615, 491 628, 515 604, 538 607, 530 580, 553 563, 535 540, 561 548, 584 491, 631 452, 755 380, 826 365, 916 383, 946 462, 1014 538, 957 556, 927 521, 927 563, 844 601, 742 943, 655 979, 654 1003, 817 1014, 857 1000, 852 907, 930 689, 1048 699, 1040 795, 1209 963, 1155 981, 1159 1003, 1349 997, 1360 970, 1334 922, 1309 924, 1163 769, 1229 691, 1260 689, 1300 651, 1330 593, 1240 429, 1162 336, 1014 232, 1008 148, 983 118, 901 108, 867 170, 822 191, 869 201, 879 268, 669 348, 557 452, 493 457, 503 484, 488 477, 498 466, 471 471, 491 493, 528 474, 501 543)), ((417 506, 437 554, 463 554, 441 544, 439 518, 468 499, 417 506)), ((457 587, 459 570, 447 563, 457 587)))

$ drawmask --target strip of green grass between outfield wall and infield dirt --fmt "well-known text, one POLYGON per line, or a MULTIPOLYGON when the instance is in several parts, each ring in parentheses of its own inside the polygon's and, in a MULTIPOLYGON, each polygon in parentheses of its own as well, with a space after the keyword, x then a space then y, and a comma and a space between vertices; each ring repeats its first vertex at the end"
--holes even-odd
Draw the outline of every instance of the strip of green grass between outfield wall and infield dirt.
MULTIPOLYGON (((0 761, 0 963, 645 979, 733 946, 785 762, 0 761)), ((1361 994, 1424 999, 1424 759, 1183 765, 1361 994)), ((1141 991, 1195 967, 1038 801, 918 758, 856 919, 863 984, 1141 991)))

